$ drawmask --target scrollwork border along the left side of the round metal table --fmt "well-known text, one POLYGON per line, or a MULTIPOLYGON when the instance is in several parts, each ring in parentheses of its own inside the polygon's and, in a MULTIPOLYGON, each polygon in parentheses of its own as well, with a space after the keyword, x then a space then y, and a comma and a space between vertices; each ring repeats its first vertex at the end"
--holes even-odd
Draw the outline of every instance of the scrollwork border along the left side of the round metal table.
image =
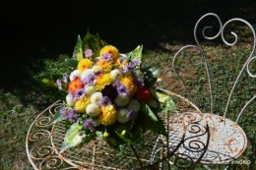
POLYGON ((52 117, 47 116, 48 112, 53 115, 51 109, 56 111, 56 106, 60 104, 57 101, 42 111, 29 129, 26 151, 34 169, 58 169, 63 164, 63 160, 55 154, 50 142, 52 117))

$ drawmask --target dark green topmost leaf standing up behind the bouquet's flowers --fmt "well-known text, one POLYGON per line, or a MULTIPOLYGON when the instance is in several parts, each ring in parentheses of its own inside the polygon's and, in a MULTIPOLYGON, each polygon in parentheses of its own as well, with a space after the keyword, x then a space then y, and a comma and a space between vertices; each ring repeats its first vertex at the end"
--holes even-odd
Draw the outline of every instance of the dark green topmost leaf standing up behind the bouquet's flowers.
POLYGON ((107 43, 100 38, 98 34, 92 34, 89 29, 87 31, 87 35, 83 39, 84 50, 92 49, 94 52, 94 58, 99 56, 100 49, 107 45, 107 43))

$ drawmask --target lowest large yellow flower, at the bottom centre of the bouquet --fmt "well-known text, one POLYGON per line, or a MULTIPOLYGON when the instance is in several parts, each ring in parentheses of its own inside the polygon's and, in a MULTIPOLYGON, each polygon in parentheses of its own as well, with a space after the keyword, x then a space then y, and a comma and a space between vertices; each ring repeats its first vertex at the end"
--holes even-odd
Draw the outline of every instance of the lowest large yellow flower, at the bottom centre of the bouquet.
POLYGON ((117 111, 115 110, 113 105, 101 107, 100 110, 101 113, 99 113, 98 119, 100 120, 103 126, 108 126, 115 123, 117 119, 117 111))

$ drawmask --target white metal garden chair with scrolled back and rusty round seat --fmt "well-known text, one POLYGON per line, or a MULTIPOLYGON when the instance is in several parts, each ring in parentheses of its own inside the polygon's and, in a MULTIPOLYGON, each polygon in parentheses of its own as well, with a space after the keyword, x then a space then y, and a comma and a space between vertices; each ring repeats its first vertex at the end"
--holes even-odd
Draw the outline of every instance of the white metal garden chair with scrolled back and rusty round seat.
MULTIPOLYGON (((214 31, 211 31, 211 32, 214 32, 214 31)), ((241 110, 238 113, 238 116, 235 122, 232 122, 226 119, 225 117, 226 117, 228 107, 230 105, 231 98, 233 98, 234 89, 237 86, 238 81, 241 80, 242 73, 246 71, 249 78, 256 77, 256 74, 255 73, 253 74, 250 68, 250 64, 256 59, 256 56, 253 56, 253 53, 255 52, 255 47, 256 47, 255 30, 248 22, 238 18, 231 19, 226 23, 224 23, 223 25, 218 15, 209 13, 201 17, 196 23, 196 26, 194 28, 194 37, 197 45, 186 45, 180 48, 180 50, 178 50, 173 57, 172 68, 176 73, 177 77, 179 78, 180 82, 184 85, 185 90, 187 91, 187 94, 190 97, 191 101, 195 103, 193 97, 198 97, 198 96, 195 93, 193 95, 192 93, 193 91, 189 89, 188 85, 186 84, 187 82, 184 80, 184 77, 182 77, 182 74, 184 75, 184 73, 182 73, 182 70, 179 70, 180 68, 177 66, 177 63, 178 63, 177 61, 180 56, 187 57, 187 55, 183 55, 184 54, 183 52, 187 49, 191 51, 194 50, 194 52, 195 51, 198 52, 196 56, 188 56, 185 59, 186 62, 184 63, 188 63, 186 65, 186 68, 188 68, 188 65, 192 67, 202 66, 202 68, 204 68, 204 71, 206 73, 205 76, 207 78, 207 85, 208 85, 207 93, 204 95, 209 95, 209 98, 210 98, 210 101, 206 100, 205 102, 208 102, 208 103, 207 104, 204 103, 204 104, 210 106, 210 109, 209 109, 210 113, 202 113, 200 111, 203 115, 202 119, 205 120, 205 121, 202 121, 203 123, 191 122, 191 124, 186 124, 187 138, 185 138, 185 141, 183 142, 181 147, 178 149, 178 151, 182 153, 186 153, 186 155, 189 155, 189 157, 192 158, 193 160, 197 160, 199 158, 197 155, 201 156, 202 154, 205 154, 203 157, 201 157, 203 163, 211 163, 211 162, 213 163, 215 161, 219 163, 228 163, 229 161, 241 155, 241 153, 246 148, 246 144, 247 144, 246 135, 244 134, 242 129, 237 125, 237 122, 241 117, 241 115, 243 114, 246 107, 256 98, 256 95, 253 95, 248 101, 245 101, 245 104, 243 105, 243 107, 240 108, 241 110), (207 61, 208 58, 206 57, 206 52, 204 51, 203 46, 199 42, 199 38, 198 38, 198 32, 199 32, 198 29, 200 28, 199 25, 202 23, 204 19, 208 17, 213 17, 217 19, 218 25, 220 28, 217 29, 214 35, 209 36, 207 35, 207 32, 209 30, 214 30, 213 27, 212 26, 204 27, 202 29, 202 36, 205 39, 213 40, 221 36, 225 45, 228 45, 228 46, 235 45, 238 41, 237 33, 233 31, 230 32, 230 35, 232 38, 230 42, 228 42, 227 39, 224 37, 224 32, 225 32, 224 30, 227 28, 227 25, 230 25, 230 23, 233 23, 233 22, 240 22, 246 25, 246 27, 248 27, 251 30, 253 35, 252 50, 248 58, 246 59, 245 63, 242 65, 242 68, 238 73, 236 79, 234 80, 233 85, 231 85, 231 88, 228 94, 228 99, 224 106, 224 113, 222 117, 214 114, 215 103, 214 103, 214 96, 213 96, 212 80, 210 76, 210 69, 208 66, 209 63, 207 61), (207 148, 207 150, 201 149, 201 148, 208 147, 208 144, 206 143, 207 142, 206 136, 208 133, 204 134, 204 132, 201 132, 201 130, 204 130, 204 129, 206 131, 210 130, 210 135, 211 135, 210 137, 211 146, 207 148), (195 135, 193 135, 193 133, 195 133, 195 135), (201 133, 202 137, 201 137, 201 134, 199 135, 198 133, 199 134, 201 133), (224 145, 224 146, 221 147, 221 145, 224 145)), ((194 80, 194 81, 199 82, 200 80, 194 80)), ((241 89, 241 90, 244 90, 244 89, 241 89)), ((182 113, 182 114, 186 114, 186 113, 182 113)))

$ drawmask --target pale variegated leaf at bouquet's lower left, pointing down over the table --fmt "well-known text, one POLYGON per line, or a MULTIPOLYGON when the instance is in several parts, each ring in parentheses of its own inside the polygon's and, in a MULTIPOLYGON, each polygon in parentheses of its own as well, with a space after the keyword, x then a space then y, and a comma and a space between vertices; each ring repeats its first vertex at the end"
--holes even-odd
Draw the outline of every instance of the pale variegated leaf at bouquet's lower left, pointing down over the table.
POLYGON ((68 148, 75 147, 82 142, 83 138, 85 138, 85 136, 82 136, 80 134, 80 130, 82 128, 83 127, 78 123, 75 123, 70 127, 65 135, 65 139, 61 147, 60 153, 68 148))

